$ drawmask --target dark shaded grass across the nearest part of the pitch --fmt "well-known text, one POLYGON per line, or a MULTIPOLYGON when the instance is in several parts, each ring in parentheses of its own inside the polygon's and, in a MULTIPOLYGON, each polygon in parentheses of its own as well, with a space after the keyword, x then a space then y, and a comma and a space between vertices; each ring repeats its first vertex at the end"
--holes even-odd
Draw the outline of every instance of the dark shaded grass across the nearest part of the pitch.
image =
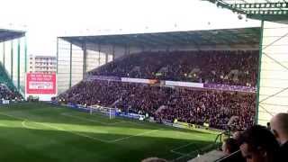
MULTIPOLYGON (((83 132, 76 132, 83 133, 83 132)), ((85 133, 103 138, 103 134, 85 133)), ((106 139, 121 139, 105 134, 106 139)), ((211 144, 208 141, 136 136, 116 142, 103 142, 63 130, 0 128, 0 161, 140 161, 145 157, 174 159, 211 144), (184 145, 187 147, 181 148, 184 145)))

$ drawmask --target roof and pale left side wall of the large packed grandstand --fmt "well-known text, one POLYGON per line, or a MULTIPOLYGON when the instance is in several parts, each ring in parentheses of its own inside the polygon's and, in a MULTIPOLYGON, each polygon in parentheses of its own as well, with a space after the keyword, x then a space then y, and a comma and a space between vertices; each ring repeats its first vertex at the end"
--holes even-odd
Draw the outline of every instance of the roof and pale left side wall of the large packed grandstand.
POLYGON ((58 92, 112 60, 147 51, 257 50, 259 28, 58 37, 58 92), (67 78, 69 78, 67 82, 67 78))

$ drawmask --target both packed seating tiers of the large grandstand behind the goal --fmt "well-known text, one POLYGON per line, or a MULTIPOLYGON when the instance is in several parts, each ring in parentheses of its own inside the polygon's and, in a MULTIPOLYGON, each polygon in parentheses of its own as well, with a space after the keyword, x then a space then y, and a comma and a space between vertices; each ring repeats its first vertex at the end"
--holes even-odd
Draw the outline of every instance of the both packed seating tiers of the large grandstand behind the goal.
MULTIPOLYGON (((117 58, 88 72, 90 76, 121 76, 173 81, 256 86, 257 50, 158 51, 117 58)), ((85 79, 60 94, 66 103, 102 105, 153 116, 244 130, 254 122, 256 94, 184 87, 164 87, 85 79), (229 125, 228 125, 229 124, 229 125)))

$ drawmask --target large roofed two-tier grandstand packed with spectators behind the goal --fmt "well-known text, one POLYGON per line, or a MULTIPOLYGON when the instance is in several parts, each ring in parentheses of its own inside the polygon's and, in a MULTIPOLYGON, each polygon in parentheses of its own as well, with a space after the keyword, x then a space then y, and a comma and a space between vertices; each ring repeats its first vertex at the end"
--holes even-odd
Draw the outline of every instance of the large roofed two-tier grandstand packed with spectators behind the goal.
MULTIPOLYGON (((58 37, 57 99, 181 128, 244 130, 256 120, 259 40, 258 27, 58 37)), ((202 147, 180 149, 182 161, 202 147)))

